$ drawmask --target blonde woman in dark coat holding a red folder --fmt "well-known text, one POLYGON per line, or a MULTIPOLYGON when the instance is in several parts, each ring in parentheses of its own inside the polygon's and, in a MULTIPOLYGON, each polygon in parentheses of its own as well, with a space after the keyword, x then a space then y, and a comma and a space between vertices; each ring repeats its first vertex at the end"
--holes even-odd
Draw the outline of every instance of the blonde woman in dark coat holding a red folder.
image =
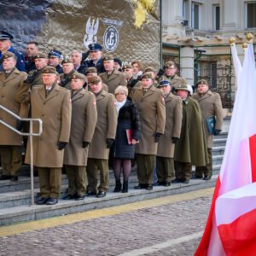
POLYGON ((134 159, 135 145, 140 137, 140 121, 137 107, 128 97, 126 86, 118 86, 114 90, 116 108, 119 113, 118 125, 113 152, 113 172, 115 188, 113 192, 128 192, 128 179, 131 172, 131 160, 134 159), (120 181, 121 169, 123 169, 123 189, 120 181))

